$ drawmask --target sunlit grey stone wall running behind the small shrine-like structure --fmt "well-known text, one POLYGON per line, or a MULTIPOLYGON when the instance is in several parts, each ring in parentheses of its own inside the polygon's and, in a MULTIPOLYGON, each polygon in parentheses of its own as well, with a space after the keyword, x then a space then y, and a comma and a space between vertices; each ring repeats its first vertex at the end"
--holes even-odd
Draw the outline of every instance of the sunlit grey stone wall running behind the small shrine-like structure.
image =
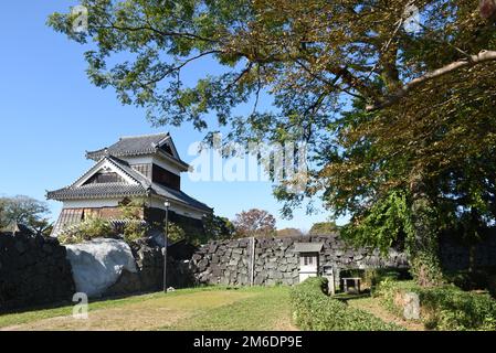
MULTIPOLYGON (((348 248, 338 236, 255 238, 254 285, 294 285, 299 277, 299 255, 295 243, 323 243, 319 264, 341 269, 394 267, 407 268, 404 254, 390 250, 382 258, 378 252, 348 248)), ((252 243, 250 238, 210 242, 192 256, 191 270, 198 284, 250 285, 252 243)))

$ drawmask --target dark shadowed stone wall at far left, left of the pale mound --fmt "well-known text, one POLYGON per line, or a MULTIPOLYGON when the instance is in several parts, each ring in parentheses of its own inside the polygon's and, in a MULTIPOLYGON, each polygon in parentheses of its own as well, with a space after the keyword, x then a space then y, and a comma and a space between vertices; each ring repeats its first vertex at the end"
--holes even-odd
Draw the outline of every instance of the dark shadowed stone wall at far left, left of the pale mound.
POLYGON ((65 247, 54 238, 0 233, 0 311, 71 300, 65 247))

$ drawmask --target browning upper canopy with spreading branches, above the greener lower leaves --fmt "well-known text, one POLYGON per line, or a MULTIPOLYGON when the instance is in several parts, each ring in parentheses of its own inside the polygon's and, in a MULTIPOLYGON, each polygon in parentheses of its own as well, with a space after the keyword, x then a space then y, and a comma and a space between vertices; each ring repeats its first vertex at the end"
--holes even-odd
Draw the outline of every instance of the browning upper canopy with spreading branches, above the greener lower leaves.
POLYGON ((434 172, 494 145, 496 32, 476 1, 81 3, 87 32, 73 32, 72 14, 54 13, 50 24, 93 41, 85 54, 92 82, 113 86, 124 104, 146 106, 156 124, 192 121, 212 131, 208 113, 215 113, 221 126, 232 125, 231 138, 305 139, 316 154, 360 141, 366 131, 381 139, 382 160, 401 147, 409 167, 428 163, 434 172), (420 10, 418 32, 405 31, 407 6, 420 10), (207 56, 224 72, 183 83, 181 71, 207 56), (272 111, 258 111, 261 94, 273 96, 272 111), (350 99, 362 106, 366 124, 329 143, 331 122, 350 99), (246 103, 253 113, 235 116, 246 103))

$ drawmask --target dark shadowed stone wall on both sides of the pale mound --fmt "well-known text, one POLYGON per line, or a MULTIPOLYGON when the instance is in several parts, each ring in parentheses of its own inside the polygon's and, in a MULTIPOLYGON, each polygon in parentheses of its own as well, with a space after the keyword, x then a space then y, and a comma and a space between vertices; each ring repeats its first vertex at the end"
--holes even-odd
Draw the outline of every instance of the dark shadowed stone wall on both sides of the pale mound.
MULTIPOLYGON (((151 239, 130 245, 136 272, 123 270, 103 297, 162 290, 163 255, 151 239)), ((188 261, 168 256, 168 287, 193 284, 188 261)), ((0 234, 0 312, 71 301, 76 288, 66 248, 56 238, 0 234)))

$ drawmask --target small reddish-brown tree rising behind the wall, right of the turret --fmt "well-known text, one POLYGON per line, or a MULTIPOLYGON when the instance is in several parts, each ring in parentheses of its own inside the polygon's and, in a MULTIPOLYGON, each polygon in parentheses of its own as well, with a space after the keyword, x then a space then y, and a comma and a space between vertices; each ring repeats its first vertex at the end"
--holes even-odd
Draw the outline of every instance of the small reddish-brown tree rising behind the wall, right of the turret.
POLYGON ((275 218, 267 211, 252 208, 236 214, 234 227, 239 237, 275 235, 275 218))

